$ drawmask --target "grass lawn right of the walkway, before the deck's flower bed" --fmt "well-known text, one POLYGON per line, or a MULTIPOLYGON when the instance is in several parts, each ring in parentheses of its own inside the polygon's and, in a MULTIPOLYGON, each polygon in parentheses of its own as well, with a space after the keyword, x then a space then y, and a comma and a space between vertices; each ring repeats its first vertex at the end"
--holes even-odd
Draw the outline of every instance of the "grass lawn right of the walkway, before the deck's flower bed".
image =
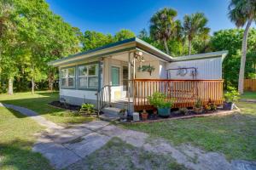
POLYGON ((172 144, 190 143, 228 159, 256 160, 256 105, 240 102, 241 114, 125 125, 172 144))

